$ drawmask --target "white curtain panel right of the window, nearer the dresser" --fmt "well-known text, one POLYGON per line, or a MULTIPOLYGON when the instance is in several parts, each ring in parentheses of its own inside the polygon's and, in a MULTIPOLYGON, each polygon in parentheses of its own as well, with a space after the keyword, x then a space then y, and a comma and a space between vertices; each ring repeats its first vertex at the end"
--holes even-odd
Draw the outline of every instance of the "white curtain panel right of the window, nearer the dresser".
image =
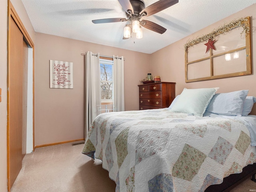
POLYGON ((124 57, 114 58, 114 108, 116 111, 124 111, 124 57))

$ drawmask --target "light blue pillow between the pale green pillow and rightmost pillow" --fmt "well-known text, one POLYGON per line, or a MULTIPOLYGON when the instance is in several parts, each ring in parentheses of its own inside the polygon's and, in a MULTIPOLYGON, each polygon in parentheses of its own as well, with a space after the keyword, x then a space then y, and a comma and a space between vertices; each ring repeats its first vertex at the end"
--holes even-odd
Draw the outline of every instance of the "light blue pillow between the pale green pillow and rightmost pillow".
POLYGON ((217 93, 206 108, 207 113, 226 116, 241 116, 248 90, 217 93))

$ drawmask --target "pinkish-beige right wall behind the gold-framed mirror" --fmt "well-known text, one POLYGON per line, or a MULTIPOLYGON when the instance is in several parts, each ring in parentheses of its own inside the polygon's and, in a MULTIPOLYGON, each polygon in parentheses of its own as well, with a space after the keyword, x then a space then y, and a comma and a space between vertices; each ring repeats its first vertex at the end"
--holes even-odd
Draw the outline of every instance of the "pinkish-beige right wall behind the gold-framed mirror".
MULTIPOLYGON (((183 88, 210 88, 220 87, 218 92, 230 92, 235 90, 248 89, 251 96, 256 96, 256 60, 253 56, 256 55, 256 32, 251 30, 251 56, 252 56, 252 75, 239 76, 232 78, 223 78, 217 80, 207 80, 200 82, 185 83, 185 52, 184 44, 188 40, 192 40, 203 34, 210 33, 214 28, 228 23, 231 20, 250 16, 251 28, 256 27, 256 4, 233 14, 224 20, 220 20, 198 32, 183 38, 165 48, 158 50, 150 55, 150 71, 152 75, 160 75, 162 81, 176 82, 176 95, 180 94, 183 88), (252 20, 254 18, 254 20, 252 20)), ((255 107, 254 107, 255 108, 255 107)))

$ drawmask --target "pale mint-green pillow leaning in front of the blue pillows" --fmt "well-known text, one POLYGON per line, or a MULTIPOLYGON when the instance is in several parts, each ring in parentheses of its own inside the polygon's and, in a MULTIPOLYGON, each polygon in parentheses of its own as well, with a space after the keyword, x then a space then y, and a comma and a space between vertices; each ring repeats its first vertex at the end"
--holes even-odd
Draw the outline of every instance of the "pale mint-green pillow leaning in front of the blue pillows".
POLYGON ((172 112, 188 113, 203 116, 210 100, 219 88, 184 88, 171 108, 172 112))

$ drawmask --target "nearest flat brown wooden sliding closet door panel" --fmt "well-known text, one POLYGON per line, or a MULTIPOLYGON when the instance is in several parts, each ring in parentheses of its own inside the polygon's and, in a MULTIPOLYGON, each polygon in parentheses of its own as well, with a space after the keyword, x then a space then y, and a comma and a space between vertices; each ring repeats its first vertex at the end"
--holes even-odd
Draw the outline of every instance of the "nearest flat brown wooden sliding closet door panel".
POLYGON ((13 185, 22 166, 23 34, 10 19, 8 65, 8 185, 13 185))

